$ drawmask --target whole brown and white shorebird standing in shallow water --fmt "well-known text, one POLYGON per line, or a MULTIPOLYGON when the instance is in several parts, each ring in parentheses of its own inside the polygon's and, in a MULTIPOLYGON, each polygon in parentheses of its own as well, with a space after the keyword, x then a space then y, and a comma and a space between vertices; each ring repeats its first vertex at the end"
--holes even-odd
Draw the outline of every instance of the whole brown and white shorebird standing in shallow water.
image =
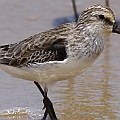
POLYGON ((120 34, 113 11, 93 5, 82 12, 77 22, 0 46, 0 68, 14 77, 34 81, 44 97, 43 120, 47 114, 57 120, 47 97, 48 87, 89 68, 102 53, 110 33, 120 34))

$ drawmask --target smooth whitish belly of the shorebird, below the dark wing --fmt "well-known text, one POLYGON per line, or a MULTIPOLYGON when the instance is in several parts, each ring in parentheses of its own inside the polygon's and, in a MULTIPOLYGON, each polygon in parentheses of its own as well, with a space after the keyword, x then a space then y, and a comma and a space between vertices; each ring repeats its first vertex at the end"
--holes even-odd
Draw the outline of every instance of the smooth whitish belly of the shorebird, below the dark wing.
POLYGON ((84 59, 79 59, 75 61, 66 59, 64 61, 46 62, 21 68, 1 64, 0 68, 14 77, 37 81, 42 85, 49 85, 81 74, 93 62, 94 60, 85 61, 84 59))

